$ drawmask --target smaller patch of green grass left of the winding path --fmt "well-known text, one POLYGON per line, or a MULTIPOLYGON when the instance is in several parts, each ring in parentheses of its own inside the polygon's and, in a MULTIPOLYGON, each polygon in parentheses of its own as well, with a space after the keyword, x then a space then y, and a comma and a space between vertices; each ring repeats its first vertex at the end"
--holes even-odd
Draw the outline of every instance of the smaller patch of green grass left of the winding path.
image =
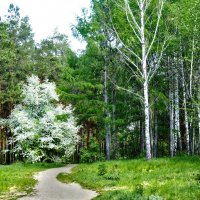
POLYGON ((33 175, 45 169, 60 167, 61 164, 25 164, 0 165, 0 199, 16 199, 33 192, 36 180, 33 175))

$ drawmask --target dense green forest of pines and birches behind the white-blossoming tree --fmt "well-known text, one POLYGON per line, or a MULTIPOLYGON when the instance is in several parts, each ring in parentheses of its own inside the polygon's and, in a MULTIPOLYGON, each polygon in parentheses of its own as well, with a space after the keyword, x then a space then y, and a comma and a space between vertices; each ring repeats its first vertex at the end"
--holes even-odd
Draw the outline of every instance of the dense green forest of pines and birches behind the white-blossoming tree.
POLYGON ((72 28, 87 42, 77 55, 57 31, 36 43, 10 5, 0 21, 0 163, 15 160, 6 119, 31 74, 74 106, 76 162, 199 155, 199 20, 199 0, 92 0, 72 28))

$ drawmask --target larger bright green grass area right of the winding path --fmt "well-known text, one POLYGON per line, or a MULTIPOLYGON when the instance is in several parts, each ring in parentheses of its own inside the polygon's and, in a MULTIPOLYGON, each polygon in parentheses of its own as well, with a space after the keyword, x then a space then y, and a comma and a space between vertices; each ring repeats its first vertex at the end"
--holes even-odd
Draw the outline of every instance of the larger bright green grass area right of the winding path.
POLYGON ((57 178, 98 191, 99 200, 200 199, 199 157, 81 164, 71 174, 59 174, 57 178))

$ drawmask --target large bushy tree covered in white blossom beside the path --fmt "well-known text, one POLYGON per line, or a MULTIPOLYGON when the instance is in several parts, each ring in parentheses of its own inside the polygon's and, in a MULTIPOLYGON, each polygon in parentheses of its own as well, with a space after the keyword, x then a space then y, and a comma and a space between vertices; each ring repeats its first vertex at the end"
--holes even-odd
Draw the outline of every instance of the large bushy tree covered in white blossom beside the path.
POLYGON ((61 161, 73 154, 79 127, 72 106, 57 104, 54 83, 32 75, 23 86, 23 101, 10 115, 14 151, 31 162, 61 161))

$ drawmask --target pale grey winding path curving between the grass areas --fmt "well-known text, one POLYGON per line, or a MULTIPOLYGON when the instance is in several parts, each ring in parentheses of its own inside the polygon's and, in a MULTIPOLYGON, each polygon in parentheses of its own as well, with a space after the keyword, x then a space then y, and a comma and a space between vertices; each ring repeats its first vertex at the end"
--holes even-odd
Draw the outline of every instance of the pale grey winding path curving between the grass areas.
POLYGON ((73 167, 75 165, 40 172, 36 176, 36 195, 23 197, 21 200, 90 200, 97 196, 95 191, 83 189, 79 184, 65 184, 56 179, 59 173, 70 172, 73 167))

